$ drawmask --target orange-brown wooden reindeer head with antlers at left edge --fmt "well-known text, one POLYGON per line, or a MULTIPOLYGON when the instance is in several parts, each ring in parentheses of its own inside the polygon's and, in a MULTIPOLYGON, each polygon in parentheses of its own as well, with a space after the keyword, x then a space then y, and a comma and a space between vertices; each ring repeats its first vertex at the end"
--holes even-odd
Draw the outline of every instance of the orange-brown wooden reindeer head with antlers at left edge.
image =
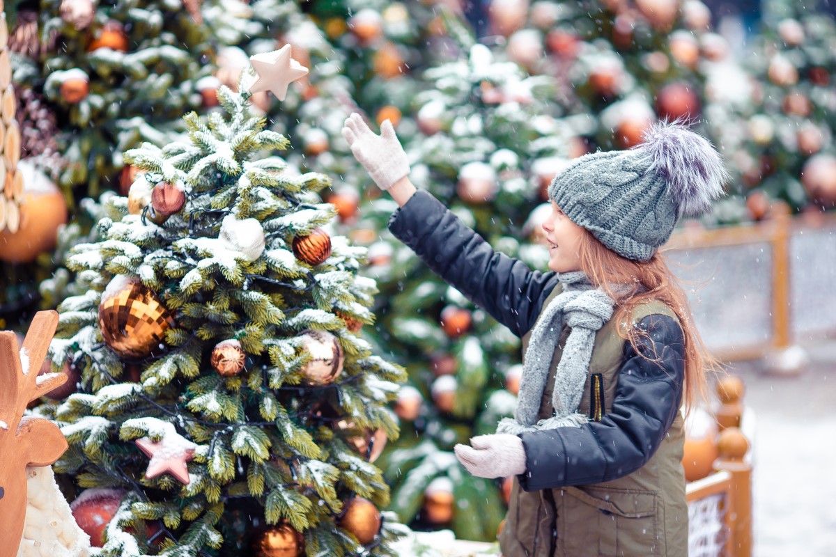
POLYGON ((59 387, 64 373, 38 377, 58 327, 57 311, 38 311, 18 350, 11 331, 0 332, 0 557, 14 557, 27 510, 27 466, 49 466, 67 450, 61 430, 23 416, 28 403, 59 387))

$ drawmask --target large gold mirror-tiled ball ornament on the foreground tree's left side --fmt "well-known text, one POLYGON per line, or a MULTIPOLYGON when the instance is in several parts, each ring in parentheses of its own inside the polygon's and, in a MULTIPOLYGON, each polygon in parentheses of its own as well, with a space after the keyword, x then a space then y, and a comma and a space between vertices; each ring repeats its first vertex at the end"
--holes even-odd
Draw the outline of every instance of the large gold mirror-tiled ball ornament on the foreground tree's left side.
POLYGON ((120 357, 140 359, 162 352, 166 331, 174 326, 174 318, 155 292, 136 279, 117 275, 102 294, 102 339, 120 357))

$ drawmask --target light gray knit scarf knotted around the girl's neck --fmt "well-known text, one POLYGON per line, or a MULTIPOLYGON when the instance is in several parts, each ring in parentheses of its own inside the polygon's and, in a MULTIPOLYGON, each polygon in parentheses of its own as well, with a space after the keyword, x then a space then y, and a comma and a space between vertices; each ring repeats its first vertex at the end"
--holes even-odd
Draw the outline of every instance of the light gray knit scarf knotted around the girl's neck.
POLYGON ((613 315, 615 302, 600 288, 593 288, 583 271, 558 273, 563 291, 540 314, 523 357, 523 377, 514 418, 504 418, 497 433, 522 433, 539 429, 579 428, 587 422, 578 412, 589 372, 595 332, 613 315), (563 356, 555 372, 554 415, 537 421, 543 389, 563 326, 571 328, 563 356))

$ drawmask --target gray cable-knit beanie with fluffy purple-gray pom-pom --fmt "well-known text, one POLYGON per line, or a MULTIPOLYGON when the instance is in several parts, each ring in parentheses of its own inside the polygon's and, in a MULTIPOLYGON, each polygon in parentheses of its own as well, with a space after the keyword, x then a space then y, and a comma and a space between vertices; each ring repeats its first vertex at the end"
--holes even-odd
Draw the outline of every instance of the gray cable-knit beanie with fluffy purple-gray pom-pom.
POLYGON ((659 122, 625 151, 587 154, 554 177, 548 195, 620 256, 647 261, 681 216, 711 209, 728 173, 707 139, 659 122))

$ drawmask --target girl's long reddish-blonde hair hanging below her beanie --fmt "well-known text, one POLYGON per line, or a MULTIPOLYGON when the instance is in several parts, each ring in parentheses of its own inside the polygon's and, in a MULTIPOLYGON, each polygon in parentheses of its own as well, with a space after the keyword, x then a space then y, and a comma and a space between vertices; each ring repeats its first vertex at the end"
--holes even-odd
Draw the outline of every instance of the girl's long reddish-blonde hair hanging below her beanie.
POLYGON ((613 319, 627 327, 616 327, 619 337, 630 341, 638 351, 637 342, 646 333, 632 326, 630 316, 636 306, 659 300, 675 313, 685 337, 685 384, 683 402, 686 412, 695 403, 695 395, 706 400, 706 373, 720 370, 719 362, 708 354, 699 332, 694 326, 688 299, 675 276, 668 268, 665 256, 658 251, 648 261, 633 261, 609 250, 589 230, 579 244, 581 271, 594 286, 600 286, 615 301, 613 319), (613 286, 619 291, 613 291, 613 286), (626 290, 621 286, 627 285, 626 290))

